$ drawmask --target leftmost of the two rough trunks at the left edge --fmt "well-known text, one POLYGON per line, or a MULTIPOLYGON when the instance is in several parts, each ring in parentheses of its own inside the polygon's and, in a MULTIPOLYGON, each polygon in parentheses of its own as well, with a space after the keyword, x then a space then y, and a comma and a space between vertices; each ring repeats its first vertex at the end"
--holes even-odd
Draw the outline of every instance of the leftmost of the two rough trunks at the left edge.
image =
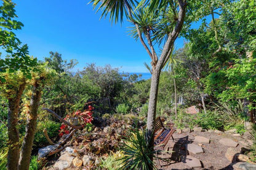
POLYGON ((19 133, 18 133, 18 110, 20 106, 20 98, 25 89, 26 83, 22 83, 17 90, 17 94, 14 98, 9 98, 9 109, 8 109, 8 156, 7 156, 7 169, 15 170, 18 168, 18 159, 20 156, 19 146, 19 133))

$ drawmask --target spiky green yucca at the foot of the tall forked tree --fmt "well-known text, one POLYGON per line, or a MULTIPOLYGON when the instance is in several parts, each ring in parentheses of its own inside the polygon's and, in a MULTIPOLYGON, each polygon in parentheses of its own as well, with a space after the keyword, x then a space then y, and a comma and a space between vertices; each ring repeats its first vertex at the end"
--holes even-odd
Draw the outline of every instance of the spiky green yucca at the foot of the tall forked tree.
POLYGON ((124 139, 124 145, 121 147, 124 156, 122 168, 124 169, 156 169, 150 155, 154 155, 146 142, 146 132, 135 129, 131 137, 124 139))

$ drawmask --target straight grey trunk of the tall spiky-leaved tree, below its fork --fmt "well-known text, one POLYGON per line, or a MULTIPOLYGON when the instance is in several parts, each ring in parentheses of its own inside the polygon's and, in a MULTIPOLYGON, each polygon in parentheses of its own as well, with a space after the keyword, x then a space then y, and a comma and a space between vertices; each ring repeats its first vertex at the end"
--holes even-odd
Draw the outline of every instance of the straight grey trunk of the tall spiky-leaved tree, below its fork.
MULTIPOLYGON (((154 120, 156 119, 156 103, 158 99, 158 85, 161 69, 154 69, 151 77, 150 86, 150 101, 148 103, 148 118, 146 121, 147 129, 147 139, 148 147, 151 149, 152 153, 154 150, 154 120)), ((151 161, 153 161, 153 155, 150 156, 151 161)), ((153 167, 152 167, 153 169, 153 167)))

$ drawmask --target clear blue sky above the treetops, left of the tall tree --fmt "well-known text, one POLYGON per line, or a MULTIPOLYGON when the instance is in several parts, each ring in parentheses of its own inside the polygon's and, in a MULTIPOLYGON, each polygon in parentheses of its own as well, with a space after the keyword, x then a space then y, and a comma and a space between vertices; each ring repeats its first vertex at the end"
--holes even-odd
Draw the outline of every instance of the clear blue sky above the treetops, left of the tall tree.
MULTIPOLYGON (((28 44, 30 55, 43 60, 49 52, 62 54, 64 60, 76 59, 78 69, 86 63, 111 64, 124 72, 148 72, 143 65, 150 57, 140 42, 127 33, 129 23, 111 25, 100 19, 89 1, 14 0, 18 20, 24 27, 17 37, 28 44)), ((183 40, 175 42, 182 47, 183 40)))

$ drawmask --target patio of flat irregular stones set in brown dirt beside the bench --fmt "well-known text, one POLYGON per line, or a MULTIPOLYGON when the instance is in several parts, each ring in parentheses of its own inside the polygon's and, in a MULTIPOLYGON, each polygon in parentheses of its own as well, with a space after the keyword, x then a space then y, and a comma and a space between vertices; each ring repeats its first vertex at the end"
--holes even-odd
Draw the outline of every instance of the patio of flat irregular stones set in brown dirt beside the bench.
MULTIPOLYGON (((170 162, 161 161, 161 167, 159 169, 239 170, 238 166, 240 164, 236 163, 249 160, 246 155, 241 153, 249 145, 249 142, 241 135, 231 134, 230 131, 223 133, 222 131, 208 132, 201 128, 196 128, 195 130, 191 133, 182 132, 174 134, 175 142, 170 140, 166 146, 168 150, 172 150, 174 153, 169 155, 168 153, 162 152, 160 157, 169 158, 170 162), (180 142, 180 139, 186 139, 186 141, 180 142), (180 144, 178 144, 179 142, 180 144), (179 149, 185 148, 183 153, 175 149, 177 145, 179 145, 179 149), (179 152, 180 158, 175 158, 175 156, 178 156, 177 152, 179 152)), ((245 165, 242 164, 242 166, 245 165)), ((249 164, 249 166, 254 167, 254 164, 249 164)))

